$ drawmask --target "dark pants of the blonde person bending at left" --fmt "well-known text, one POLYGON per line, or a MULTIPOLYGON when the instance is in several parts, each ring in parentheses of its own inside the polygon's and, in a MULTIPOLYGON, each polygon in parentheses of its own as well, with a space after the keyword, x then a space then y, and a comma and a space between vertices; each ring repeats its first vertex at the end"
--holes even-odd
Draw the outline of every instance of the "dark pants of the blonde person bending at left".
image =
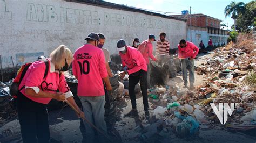
POLYGON ((17 109, 23 142, 49 142, 50 130, 46 105, 33 102, 19 94, 17 109))

